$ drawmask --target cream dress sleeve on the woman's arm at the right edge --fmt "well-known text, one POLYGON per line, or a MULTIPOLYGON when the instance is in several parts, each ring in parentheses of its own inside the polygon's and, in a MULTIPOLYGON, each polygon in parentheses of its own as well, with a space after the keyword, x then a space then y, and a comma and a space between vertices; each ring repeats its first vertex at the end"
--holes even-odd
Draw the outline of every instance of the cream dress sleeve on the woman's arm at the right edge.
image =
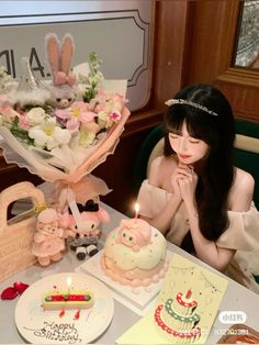
POLYGON ((219 247, 259 251, 259 212, 252 203, 247 212, 228 211, 229 226, 217 240, 219 247))

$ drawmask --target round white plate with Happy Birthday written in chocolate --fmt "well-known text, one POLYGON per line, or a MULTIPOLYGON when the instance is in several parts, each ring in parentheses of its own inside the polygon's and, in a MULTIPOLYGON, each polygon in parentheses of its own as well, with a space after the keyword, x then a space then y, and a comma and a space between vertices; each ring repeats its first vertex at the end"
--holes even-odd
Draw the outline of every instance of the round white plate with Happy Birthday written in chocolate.
POLYGON ((100 280, 86 274, 57 274, 34 282, 20 297, 15 308, 15 324, 24 340, 33 344, 91 343, 110 325, 114 313, 113 298, 100 280), (88 289, 94 293, 94 304, 89 310, 44 311, 42 297, 58 289, 67 291, 88 289))

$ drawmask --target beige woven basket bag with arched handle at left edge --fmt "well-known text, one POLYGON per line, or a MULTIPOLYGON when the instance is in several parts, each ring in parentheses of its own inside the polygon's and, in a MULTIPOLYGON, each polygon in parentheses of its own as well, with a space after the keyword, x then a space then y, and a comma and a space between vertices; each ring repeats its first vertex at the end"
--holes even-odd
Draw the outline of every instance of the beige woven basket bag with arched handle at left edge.
POLYGON ((0 281, 33 265, 31 253, 35 233, 36 213, 29 210, 8 221, 11 203, 31 198, 34 207, 44 204, 44 193, 31 182, 20 182, 0 193, 0 281))

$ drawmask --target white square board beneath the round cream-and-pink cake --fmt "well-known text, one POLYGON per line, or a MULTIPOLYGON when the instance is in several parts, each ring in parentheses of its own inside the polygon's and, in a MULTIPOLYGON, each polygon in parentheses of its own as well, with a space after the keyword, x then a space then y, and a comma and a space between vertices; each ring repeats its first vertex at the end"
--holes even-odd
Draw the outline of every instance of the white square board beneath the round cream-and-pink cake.
MULTIPOLYGON (((100 279, 110 288, 114 299, 130 308, 138 315, 145 315, 155 303, 156 297, 161 288, 162 279, 156 283, 151 282, 148 287, 132 288, 130 286, 124 286, 112 280, 112 278, 104 274, 100 264, 102 255, 103 249, 79 266, 76 271, 90 274, 91 276, 100 279)), ((168 263, 170 263, 171 257, 172 252, 167 249, 168 263)))

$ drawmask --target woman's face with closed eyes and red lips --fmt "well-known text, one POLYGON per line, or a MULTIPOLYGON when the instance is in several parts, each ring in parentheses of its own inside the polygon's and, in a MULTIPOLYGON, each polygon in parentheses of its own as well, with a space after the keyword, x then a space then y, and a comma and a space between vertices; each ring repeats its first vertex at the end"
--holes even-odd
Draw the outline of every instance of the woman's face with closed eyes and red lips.
POLYGON ((177 153, 183 164, 194 164, 201 160, 209 152, 209 145, 200 138, 192 137, 187 131, 185 121, 180 133, 169 134, 171 148, 177 153))

